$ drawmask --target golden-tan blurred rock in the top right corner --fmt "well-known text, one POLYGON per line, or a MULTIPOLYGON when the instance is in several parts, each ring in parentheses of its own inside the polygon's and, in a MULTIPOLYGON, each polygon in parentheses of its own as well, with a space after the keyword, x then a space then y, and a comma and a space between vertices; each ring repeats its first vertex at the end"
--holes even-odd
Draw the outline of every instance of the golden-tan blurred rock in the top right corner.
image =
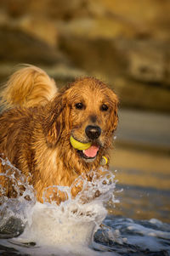
MULTIPOLYGON (((97 0, 95 1, 98 2, 97 0)), ((137 31, 144 31, 141 37, 170 39, 169 0, 99 0, 117 20, 131 24, 137 31)))

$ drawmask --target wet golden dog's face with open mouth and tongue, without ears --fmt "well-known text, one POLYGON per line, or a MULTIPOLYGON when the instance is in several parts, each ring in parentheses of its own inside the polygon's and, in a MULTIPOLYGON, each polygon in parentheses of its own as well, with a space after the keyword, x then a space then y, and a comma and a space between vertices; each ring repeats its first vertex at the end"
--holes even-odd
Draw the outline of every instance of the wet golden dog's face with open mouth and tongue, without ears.
POLYGON ((117 97, 105 83, 84 78, 66 92, 71 136, 91 143, 88 150, 77 151, 86 162, 93 162, 99 151, 109 145, 117 124, 117 97))

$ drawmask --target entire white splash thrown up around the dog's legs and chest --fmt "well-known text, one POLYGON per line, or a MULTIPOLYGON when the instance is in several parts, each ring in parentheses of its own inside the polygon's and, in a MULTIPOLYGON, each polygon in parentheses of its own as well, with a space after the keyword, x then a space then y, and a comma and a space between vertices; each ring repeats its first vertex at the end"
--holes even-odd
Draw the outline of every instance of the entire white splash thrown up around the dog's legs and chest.
MULTIPOLYGON (((117 202, 113 194, 116 187, 115 175, 103 168, 101 171, 104 175, 100 179, 97 179, 94 173, 92 181, 80 176, 75 180, 75 184, 78 180, 83 181, 82 191, 75 198, 71 198, 73 185, 70 188, 57 185, 50 186, 44 190, 43 203, 40 203, 37 202, 28 179, 21 174, 20 170, 14 168, 8 159, 0 158, 0 160, 5 167, 5 172, 1 175, 13 182, 16 191, 15 198, 8 199, 3 187, 1 187, 1 193, 4 194, 0 206, 0 212, 3 216, 0 221, 1 233, 5 235, 4 227, 6 230, 7 227, 9 229, 12 223, 11 218, 20 219, 20 225, 18 223, 15 232, 10 234, 10 236, 18 237, 8 242, 17 248, 20 247, 21 251, 24 248, 25 253, 28 253, 26 245, 36 245, 32 249, 32 255, 36 255, 36 253, 42 255, 44 252, 44 255, 48 255, 49 252, 56 252, 56 249, 58 252, 59 250, 63 252, 60 255, 67 255, 65 253, 68 252, 68 255, 71 255, 71 252, 77 252, 78 255, 89 254, 88 250, 93 247, 94 232, 99 229, 99 225, 107 214, 104 207, 105 201, 117 202), (22 191, 20 191, 21 187, 22 191), (54 201, 49 203, 46 197, 49 191, 54 192, 55 189, 64 192, 65 198, 67 198, 59 206, 54 201), (94 196, 96 193, 98 193, 98 197, 94 196), (29 200, 27 200, 28 198, 29 200), (88 202, 83 203, 83 198, 88 198, 88 202), (23 233, 20 235, 21 232, 23 233), (85 251, 86 253, 83 254, 85 251)), ((30 249, 29 246, 29 254, 31 253, 30 249)), ((96 254, 93 250, 91 251, 91 255, 99 255, 99 253, 96 254)))

